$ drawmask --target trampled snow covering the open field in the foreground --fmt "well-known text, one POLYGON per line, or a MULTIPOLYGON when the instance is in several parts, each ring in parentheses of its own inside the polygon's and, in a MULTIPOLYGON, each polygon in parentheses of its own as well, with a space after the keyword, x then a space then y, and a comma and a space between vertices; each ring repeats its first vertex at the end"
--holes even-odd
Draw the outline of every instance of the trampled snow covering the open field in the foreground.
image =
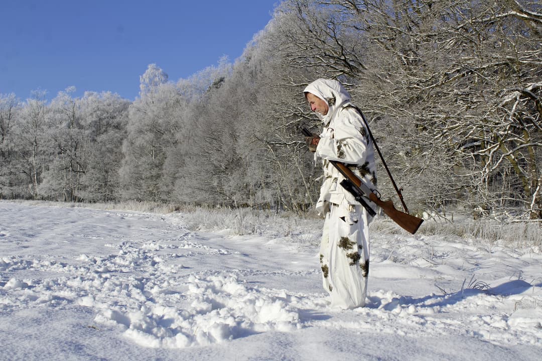
POLYGON ((367 306, 341 311, 306 241, 320 227, 234 237, 2 201, 0 360, 540 359, 539 252, 373 232, 367 306))

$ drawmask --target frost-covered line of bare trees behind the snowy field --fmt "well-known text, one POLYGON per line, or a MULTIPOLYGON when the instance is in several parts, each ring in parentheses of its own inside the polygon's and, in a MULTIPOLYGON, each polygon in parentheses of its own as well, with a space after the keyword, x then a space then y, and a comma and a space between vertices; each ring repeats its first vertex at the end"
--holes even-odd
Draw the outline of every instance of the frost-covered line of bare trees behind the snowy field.
POLYGON ((541 7, 286 0, 235 62, 179 81, 151 64, 133 102, 0 95, 0 196, 302 211, 321 170, 301 91, 328 77, 363 109, 411 211, 540 220, 541 7))

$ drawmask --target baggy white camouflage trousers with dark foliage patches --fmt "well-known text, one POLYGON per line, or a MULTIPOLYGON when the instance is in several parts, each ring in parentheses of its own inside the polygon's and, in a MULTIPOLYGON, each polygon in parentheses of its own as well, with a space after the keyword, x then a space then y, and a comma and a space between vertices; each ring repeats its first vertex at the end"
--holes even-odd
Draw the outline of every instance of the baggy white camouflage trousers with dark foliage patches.
POLYGON ((331 306, 365 306, 369 275, 369 222, 360 205, 330 204, 320 244, 324 289, 331 306))

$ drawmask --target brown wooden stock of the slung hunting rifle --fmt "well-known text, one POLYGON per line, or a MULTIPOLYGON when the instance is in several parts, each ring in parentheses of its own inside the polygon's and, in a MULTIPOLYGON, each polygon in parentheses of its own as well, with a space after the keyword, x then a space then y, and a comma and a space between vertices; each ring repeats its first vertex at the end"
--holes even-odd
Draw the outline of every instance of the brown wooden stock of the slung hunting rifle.
POLYGON ((330 162, 346 179, 349 179, 352 183, 354 183, 354 185, 356 185, 359 191, 362 192, 366 198, 369 198, 371 202, 382 208, 382 211, 384 211, 384 213, 389 216, 389 218, 396 222, 397 225, 412 234, 416 233, 418 228, 420 228, 423 219, 399 211, 395 208, 395 206, 393 205, 393 201, 391 200, 383 201, 378 198, 378 196, 375 193, 371 192, 371 190, 362 183, 362 181, 356 176, 356 174, 354 174, 352 170, 346 167, 343 163, 333 160, 330 162))

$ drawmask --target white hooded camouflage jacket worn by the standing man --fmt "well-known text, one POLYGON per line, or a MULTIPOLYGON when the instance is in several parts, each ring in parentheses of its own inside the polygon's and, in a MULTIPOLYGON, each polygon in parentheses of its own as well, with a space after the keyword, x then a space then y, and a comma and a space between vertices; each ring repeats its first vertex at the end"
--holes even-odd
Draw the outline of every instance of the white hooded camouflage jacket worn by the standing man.
MULTIPOLYGON (((320 115, 324 129, 315 157, 322 158, 324 183, 320 188, 317 210, 324 214, 327 202, 333 204, 359 204, 350 192, 339 185, 343 176, 328 160, 345 163, 370 189, 376 189, 375 152, 369 131, 362 115, 350 102, 350 94, 335 80, 318 79, 309 84, 304 93, 311 93, 324 100, 329 107, 320 115)), ((376 206, 367 202, 370 206, 376 206)))

